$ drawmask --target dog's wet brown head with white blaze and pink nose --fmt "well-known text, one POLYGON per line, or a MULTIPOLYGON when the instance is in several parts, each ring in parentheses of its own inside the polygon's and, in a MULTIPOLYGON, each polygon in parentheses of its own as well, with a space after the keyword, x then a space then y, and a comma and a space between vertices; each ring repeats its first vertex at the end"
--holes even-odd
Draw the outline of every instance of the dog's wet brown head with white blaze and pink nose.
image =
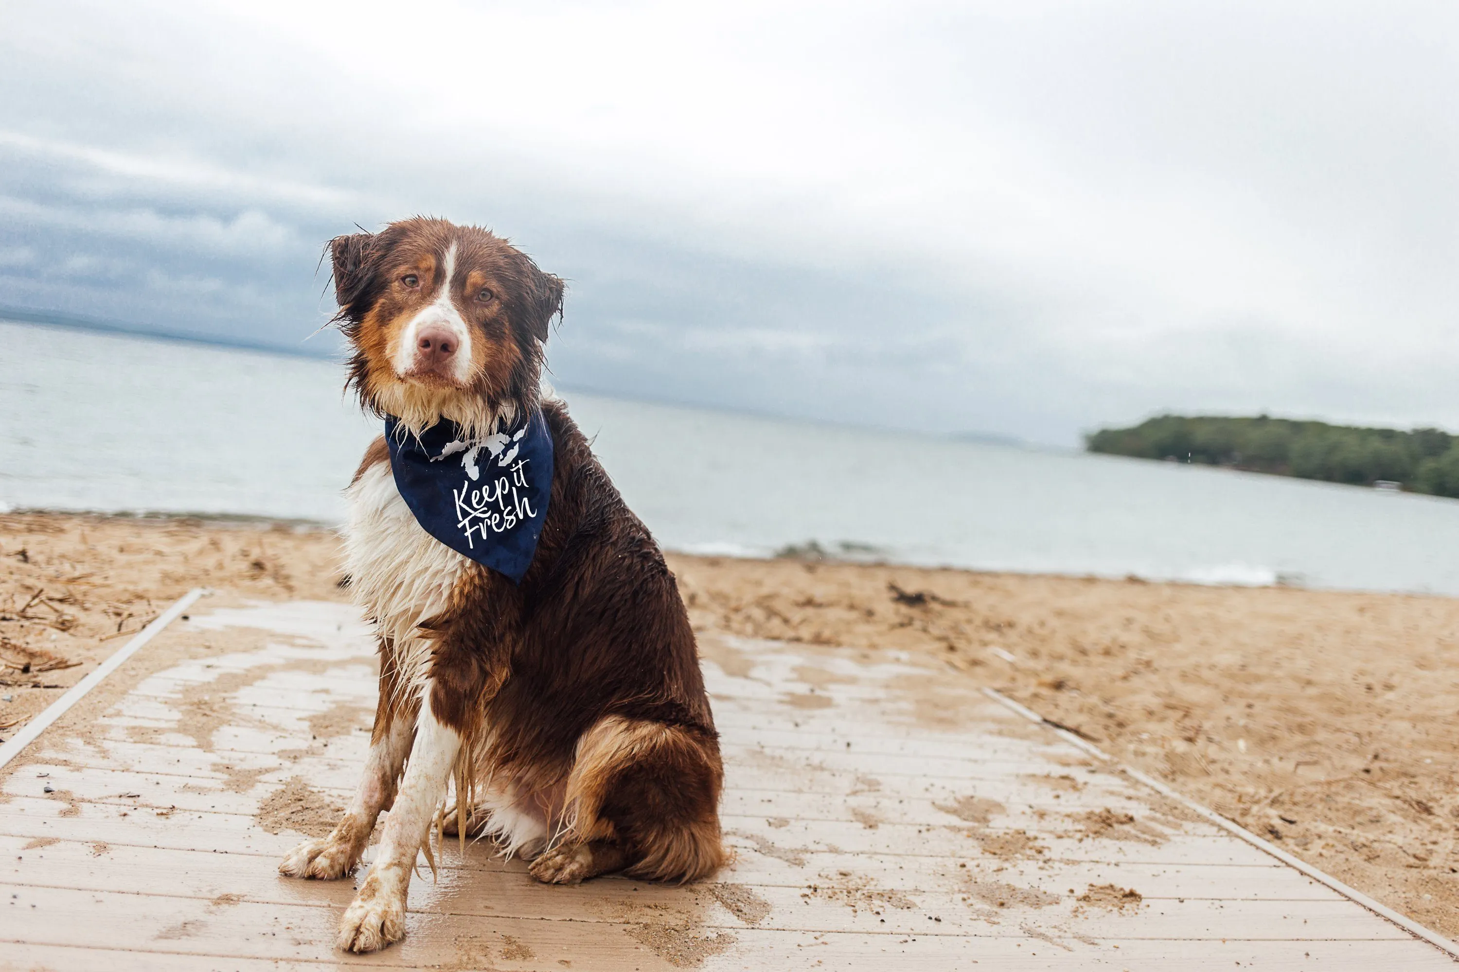
POLYGON ((562 280, 499 236, 410 219, 330 240, 336 321, 365 408, 420 431, 452 418, 490 431, 499 411, 537 399, 562 280))

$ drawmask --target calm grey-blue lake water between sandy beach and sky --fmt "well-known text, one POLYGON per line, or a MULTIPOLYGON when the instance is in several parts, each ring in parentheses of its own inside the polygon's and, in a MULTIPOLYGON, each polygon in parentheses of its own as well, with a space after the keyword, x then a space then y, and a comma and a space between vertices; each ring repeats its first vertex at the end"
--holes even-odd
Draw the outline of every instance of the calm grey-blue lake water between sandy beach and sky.
MULTIPOLYGON (((0 504, 337 522, 330 361, 0 322, 0 504)), ((1459 595, 1459 501, 562 392, 667 548, 1459 595)))

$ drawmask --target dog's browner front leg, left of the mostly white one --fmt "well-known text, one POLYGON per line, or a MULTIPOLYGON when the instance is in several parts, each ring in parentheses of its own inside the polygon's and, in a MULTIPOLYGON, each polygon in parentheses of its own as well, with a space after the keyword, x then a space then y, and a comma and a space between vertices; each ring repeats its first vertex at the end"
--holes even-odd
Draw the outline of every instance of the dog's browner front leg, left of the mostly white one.
POLYGON ((355 870, 375 829, 375 819, 395 799, 395 783, 414 736, 411 718, 397 713, 392 701, 392 685, 382 676, 365 775, 360 777, 349 809, 328 836, 305 841, 289 851, 279 864, 280 874, 334 880, 355 870))

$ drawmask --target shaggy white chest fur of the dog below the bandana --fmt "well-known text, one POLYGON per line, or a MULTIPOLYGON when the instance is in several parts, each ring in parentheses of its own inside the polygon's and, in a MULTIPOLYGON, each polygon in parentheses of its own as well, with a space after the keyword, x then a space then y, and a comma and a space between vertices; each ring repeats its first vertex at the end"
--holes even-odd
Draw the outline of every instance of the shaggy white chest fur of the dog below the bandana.
MULTIPOLYGON (((426 533, 395 488, 390 462, 376 462, 347 491, 344 551, 355 600, 394 641, 397 665, 423 647, 416 625, 445 609, 465 557, 426 533)), ((414 681, 413 678, 410 681, 414 681)))

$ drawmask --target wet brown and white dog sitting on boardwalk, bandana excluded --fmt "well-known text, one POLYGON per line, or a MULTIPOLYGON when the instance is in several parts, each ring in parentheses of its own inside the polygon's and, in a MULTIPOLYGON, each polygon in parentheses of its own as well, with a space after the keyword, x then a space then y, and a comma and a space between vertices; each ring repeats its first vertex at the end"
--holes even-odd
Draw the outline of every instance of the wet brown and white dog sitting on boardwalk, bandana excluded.
POLYGON ((534 877, 604 871, 683 882, 725 858, 721 762, 689 616, 648 529, 566 407, 543 398, 562 281, 474 226, 411 219, 330 243, 337 321, 362 405, 422 431, 486 436, 541 409, 553 440, 546 525, 521 584, 426 533, 395 488, 384 437, 349 488, 347 571, 379 635, 379 704, 338 826, 279 866, 349 874, 390 810, 338 944, 406 934, 406 889, 445 832, 487 834, 534 877))

